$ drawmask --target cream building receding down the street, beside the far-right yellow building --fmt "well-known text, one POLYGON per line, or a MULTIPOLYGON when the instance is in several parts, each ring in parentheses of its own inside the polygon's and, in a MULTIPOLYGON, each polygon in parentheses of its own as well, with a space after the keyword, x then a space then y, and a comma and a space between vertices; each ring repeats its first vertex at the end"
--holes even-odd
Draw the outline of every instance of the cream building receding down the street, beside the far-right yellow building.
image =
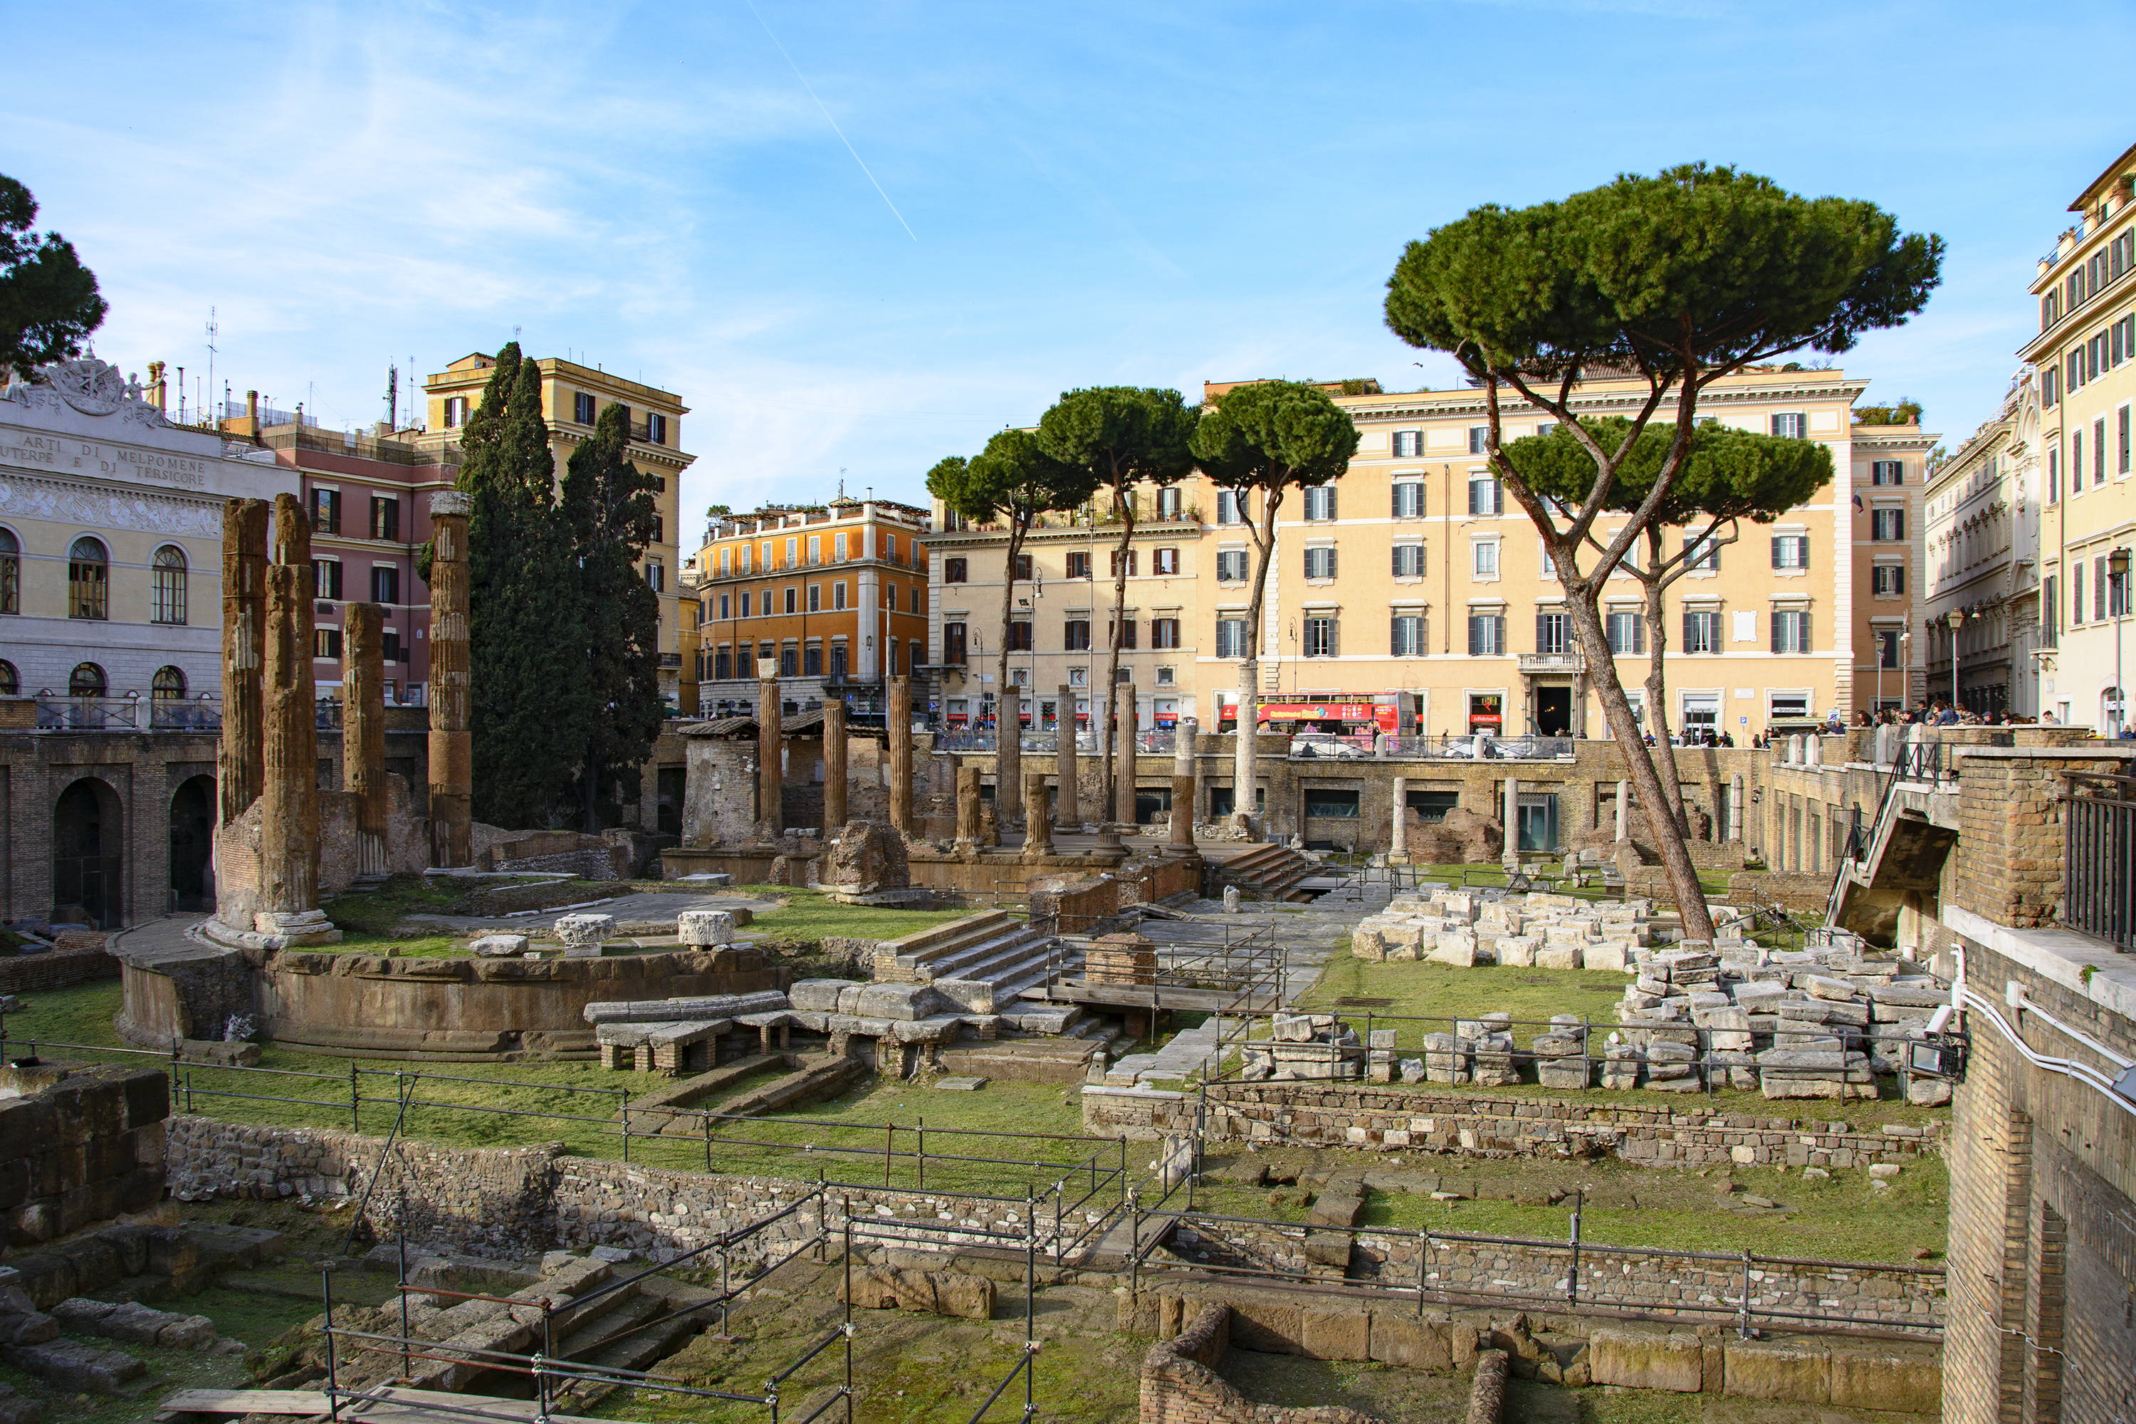
POLYGON ((2040 495, 2040 380, 2025 369, 1995 416, 1929 474, 1914 638, 1931 698, 1950 698, 1957 675, 1961 707, 2038 715, 2040 495))

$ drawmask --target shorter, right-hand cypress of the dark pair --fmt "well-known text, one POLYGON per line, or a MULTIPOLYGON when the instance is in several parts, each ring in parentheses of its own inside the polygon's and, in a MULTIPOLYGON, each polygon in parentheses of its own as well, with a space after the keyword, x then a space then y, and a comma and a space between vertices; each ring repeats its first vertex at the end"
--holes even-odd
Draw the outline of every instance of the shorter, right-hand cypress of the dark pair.
POLYGON ((666 709, 660 700, 660 596, 639 572, 654 540, 656 476, 628 459, 630 425, 607 406, 594 438, 564 465, 560 517, 577 559, 581 687, 575 700, 581 828, 617 824, 619 798, 639 794, 666 709))

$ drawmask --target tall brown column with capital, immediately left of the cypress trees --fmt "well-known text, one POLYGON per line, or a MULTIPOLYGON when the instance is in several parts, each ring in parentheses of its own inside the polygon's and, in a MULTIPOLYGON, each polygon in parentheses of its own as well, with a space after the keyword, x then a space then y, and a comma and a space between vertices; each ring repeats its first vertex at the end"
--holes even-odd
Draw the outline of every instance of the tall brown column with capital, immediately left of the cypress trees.
POLYGON ((457 489, 429 497, 429 863, 474 865, 474 739, 468 732, 468 512, 457 489))

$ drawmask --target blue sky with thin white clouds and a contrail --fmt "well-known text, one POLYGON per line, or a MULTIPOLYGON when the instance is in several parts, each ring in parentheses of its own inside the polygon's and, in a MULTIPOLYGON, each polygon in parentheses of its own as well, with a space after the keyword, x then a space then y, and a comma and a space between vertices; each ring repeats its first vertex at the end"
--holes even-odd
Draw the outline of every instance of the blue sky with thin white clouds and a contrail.
MULTIPOLYGON (((1380 322, 1403 241, 1692 158, 1948 239, 1846 365, 1957 442, 2136 139, 1969 0, 754 4, 0 0, 0 173, 96 269, 105 359, 190 384, 214 305, 218 384, 340 427, 519 327, 684 397, 694 525, 921 500, 1068 386, 1452 384, 1380 322)), ((2053 30, 2127 56, 2136 6, 2053 30)))

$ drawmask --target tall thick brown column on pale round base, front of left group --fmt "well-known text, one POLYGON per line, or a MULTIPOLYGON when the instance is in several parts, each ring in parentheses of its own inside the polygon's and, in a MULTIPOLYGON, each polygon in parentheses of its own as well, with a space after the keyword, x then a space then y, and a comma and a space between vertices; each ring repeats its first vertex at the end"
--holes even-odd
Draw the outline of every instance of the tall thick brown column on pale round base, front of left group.
POLYGON ((312 521, 297 495, 276 495, 261 707, 261 899, 252 927, 293 939, 333 929, 318 912, 314 594, 312 521))

